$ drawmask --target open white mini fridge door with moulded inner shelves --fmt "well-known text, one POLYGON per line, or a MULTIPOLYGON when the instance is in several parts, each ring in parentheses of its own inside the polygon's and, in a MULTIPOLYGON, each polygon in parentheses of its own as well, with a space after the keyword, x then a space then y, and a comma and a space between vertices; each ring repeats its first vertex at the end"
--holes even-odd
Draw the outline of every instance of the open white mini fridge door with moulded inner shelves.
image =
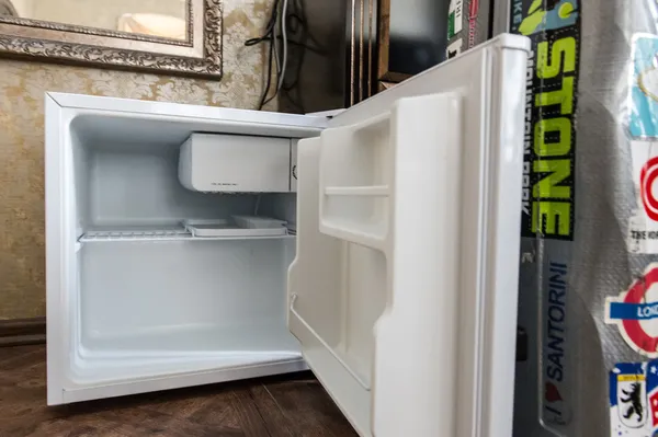
POLYGON ((334 117, 297 152, 288 327, 363 436, 509 436, 526 41, 334 117))

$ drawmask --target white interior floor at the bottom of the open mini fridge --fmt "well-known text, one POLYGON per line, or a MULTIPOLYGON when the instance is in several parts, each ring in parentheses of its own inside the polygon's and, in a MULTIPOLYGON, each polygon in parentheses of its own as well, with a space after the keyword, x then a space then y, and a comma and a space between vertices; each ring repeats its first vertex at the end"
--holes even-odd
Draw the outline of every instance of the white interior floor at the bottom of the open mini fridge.
POLYGON ((91 338, 76 350, 71 383, 98 386, 160 375, 254 366, 299 359, 285 323, 164 327, 91 338))

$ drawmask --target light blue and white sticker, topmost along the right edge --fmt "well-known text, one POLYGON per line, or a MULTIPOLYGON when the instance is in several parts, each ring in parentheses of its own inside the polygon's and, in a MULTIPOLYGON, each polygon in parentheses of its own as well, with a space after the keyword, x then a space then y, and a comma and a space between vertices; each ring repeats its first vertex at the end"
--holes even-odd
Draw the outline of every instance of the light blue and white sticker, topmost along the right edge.
POLYGON ((636 35, 628 129, 635 138, 658 138, 658 37, 636 35))

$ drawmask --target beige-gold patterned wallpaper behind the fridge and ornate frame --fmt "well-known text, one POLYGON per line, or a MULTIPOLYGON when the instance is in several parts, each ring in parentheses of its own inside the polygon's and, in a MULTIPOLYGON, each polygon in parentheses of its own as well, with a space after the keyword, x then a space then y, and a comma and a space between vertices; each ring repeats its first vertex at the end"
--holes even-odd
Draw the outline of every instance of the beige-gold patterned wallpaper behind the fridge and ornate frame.
POLYGON ((0 59, 0 319, 46 313, 44 92, 254 108, 263 87, 264 47, 243 43, 260 35, 271 4, 224 0, 224 78, 218 82, 0 59))

